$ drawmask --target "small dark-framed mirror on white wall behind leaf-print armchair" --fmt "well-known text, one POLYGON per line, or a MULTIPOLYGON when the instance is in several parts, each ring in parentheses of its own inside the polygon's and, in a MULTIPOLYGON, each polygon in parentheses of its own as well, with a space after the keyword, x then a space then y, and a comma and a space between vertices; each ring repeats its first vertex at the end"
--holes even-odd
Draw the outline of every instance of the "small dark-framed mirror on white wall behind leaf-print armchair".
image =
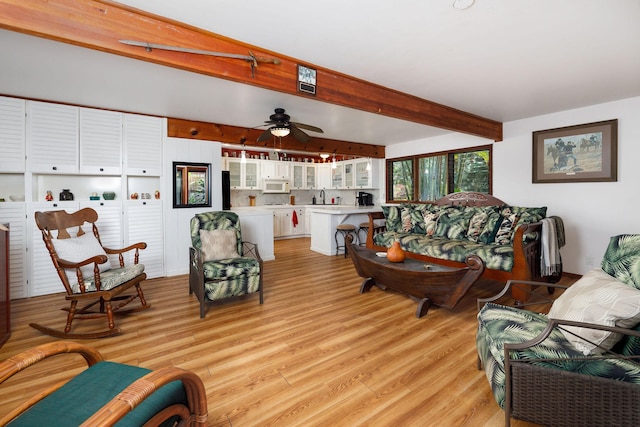
POLYGON ((173 207, 211 207, 211 164, 173 162, 173 207))

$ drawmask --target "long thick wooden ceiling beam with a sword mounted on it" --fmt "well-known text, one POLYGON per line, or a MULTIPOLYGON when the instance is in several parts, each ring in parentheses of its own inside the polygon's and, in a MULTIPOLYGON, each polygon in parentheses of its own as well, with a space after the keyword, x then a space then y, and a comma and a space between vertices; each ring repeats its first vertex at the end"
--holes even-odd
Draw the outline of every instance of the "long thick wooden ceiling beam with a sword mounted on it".
POLYGON ((502 123, 369 83, 314 64, 106 0, 1 0, 0 28, 57 40, 216 78, 307 97, 427 126, 502 140, 502 123), (119 40, 276 58, 251 63, 231 58, 128 46, 119 40), (317 70, 316 95, 297 91, 297 66, 317 70))

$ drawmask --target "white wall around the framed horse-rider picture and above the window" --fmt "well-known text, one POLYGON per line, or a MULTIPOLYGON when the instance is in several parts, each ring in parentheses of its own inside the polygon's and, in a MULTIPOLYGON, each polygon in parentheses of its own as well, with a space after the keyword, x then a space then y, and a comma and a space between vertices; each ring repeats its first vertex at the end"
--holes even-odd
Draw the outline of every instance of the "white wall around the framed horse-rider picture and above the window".
MULTIPOLYGON (((547 206, 564 220, 564 271, 584 274, 598 265, 609 238, 640 233, 640 97, 531 117, 504 124, 504 140, 493 143, 493 195, 512 205, 547 206), (618 181, 533 184, 532 132, 618 119, 618 181)), ((447 134, 388 146, 387 158, 492 143, 447 134)))

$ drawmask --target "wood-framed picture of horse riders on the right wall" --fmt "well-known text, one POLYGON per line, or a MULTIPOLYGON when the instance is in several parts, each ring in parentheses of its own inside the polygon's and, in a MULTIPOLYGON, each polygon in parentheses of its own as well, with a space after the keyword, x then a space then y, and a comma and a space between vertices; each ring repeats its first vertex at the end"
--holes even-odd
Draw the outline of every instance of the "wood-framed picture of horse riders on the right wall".
POLYGON ((618 120, 533 132, 537 183, 618 180, 618 120))

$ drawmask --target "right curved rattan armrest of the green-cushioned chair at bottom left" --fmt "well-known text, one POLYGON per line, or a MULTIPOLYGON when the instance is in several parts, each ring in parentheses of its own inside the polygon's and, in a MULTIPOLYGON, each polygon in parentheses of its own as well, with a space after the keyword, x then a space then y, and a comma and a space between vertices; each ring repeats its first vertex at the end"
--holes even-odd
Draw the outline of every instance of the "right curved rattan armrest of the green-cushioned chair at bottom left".
MULTIPOLYGON (((173 381, 181 381, 187 396, 187 404, 193 410, 192 425, 206 426, 208 422, 207 393, 198 375, 193 372, 169 366, 152 371, 137 379, 122 390, 109 403, 100 408, 82 426, 112 426, 122 419, 133 408, 141 404, 162 386, 173 381)), ((159 415, 163 415, 160 413, 159 415)), ((149 424, 156 425, 156 421, 164 421, 164 417, 154 417, 149 424)))

